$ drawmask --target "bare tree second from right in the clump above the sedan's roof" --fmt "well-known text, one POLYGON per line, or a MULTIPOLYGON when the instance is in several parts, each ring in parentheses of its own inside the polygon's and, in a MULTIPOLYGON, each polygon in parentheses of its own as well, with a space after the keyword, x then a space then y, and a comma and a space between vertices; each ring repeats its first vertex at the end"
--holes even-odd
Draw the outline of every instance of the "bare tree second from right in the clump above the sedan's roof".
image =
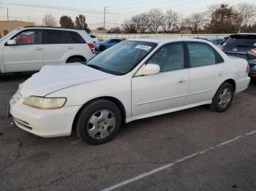
POLYGON ((151 9, 148 12, 149 28, 152 32, 157 33, 159 27, 162 25, 164 15, 161 9, 151 9))

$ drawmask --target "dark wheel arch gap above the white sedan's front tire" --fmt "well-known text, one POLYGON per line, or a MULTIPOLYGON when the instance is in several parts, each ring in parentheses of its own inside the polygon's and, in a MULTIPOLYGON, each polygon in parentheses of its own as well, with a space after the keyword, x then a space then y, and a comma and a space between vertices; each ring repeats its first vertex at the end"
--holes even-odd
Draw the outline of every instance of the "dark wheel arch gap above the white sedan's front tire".
POLYGON ((102 96, 102 97, 93 98, 90 101, 87 101, 85 104, 83 104, 83 106, 80 107, 80 109, 78 109, 78 112, 75 114, 75 118, 72 123, 72 129, 75 128, 75 123, 77 122, 78 116, 79 116, 80 112, 83 110, 83 108, 87 104, 91 103, 92 101, 96 101, 97 99, 106 99, 106 100, 112 101, 114 104, 116 104, 116 106, 118 106, 118 108, 120 109, 121 116, 122 116, 122 122, 125 122, 127 114, 126 114, 126 109, 124 107, 124 104, 122 104, 121 101, 118 100, 118 98, 114 98, 112 96, 102 96))

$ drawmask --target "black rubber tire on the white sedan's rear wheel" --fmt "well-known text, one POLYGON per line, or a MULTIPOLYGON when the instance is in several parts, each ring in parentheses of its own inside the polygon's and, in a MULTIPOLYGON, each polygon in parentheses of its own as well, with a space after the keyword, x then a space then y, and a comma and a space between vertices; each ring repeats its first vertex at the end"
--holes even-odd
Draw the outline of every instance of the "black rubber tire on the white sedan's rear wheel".
POLYGON ((228 82, 224 82, 217 90, 217 93, 215 93, 214 98, 212 99, 212 103, 208 106, 214 112, 225 112, 230 107, 230 104, 233 101, 233 97, 234 97, 233 85, 231 85, 228 82), (226 103, 224 103, 222 101, 222 98, 220 98, 221 95, 224 95, 225 90, 228 90, 228 92, 230 92, 230 95, 224 98, 227 100, 226 103))

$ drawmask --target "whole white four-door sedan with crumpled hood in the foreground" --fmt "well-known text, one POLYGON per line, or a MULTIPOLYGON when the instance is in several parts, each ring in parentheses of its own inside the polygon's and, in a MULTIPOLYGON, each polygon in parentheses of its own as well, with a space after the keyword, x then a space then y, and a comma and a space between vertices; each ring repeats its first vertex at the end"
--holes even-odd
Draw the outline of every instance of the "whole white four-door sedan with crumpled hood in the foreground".
POLYGON ((102 144, 122 122, 208 104, 224 112, 249 85, 246 60, 199 39, 130 39, 87 63, 44 66, 10 100, 15 124, 37 136, 102 144))

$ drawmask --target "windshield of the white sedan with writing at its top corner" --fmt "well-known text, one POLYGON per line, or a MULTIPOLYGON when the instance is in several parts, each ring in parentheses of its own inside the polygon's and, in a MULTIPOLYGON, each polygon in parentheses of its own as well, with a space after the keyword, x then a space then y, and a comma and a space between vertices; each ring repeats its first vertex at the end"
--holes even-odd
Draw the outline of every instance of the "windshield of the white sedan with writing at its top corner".
POLYGON ((157 43, 124 41, 108 48, 86 64, 110 74, 123 75, 135 68, 157 43))

